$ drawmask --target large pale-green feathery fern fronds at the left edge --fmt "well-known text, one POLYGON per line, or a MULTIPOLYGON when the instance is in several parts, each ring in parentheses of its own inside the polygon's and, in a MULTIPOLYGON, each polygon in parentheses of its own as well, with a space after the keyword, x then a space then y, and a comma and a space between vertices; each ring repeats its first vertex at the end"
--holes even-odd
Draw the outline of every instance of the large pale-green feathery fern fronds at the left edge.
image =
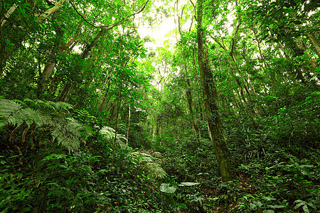
POLYGON ((28 127, 33 125, 35 130, 39 127, 50 127, 53 140, 69 151, 80 146, 82 137, 92 136, 93 131, 89 126, 82 126, 75 119, 65 117, 68 114, 61 110, 72 109, 70 104, 31 99, 25 99, 25 102, 40 109, 26 107, 21 101, 0 99, 0 130, 4 126, 18 127, 25 124, 28 127))

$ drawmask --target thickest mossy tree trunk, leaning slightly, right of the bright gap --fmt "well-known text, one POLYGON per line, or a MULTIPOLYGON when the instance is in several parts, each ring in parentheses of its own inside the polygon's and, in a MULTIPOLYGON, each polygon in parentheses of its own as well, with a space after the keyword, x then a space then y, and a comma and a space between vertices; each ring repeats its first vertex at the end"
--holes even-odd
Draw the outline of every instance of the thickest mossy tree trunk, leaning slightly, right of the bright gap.
POLYGON ((215 156, 218 162, 218 168, 223 182, 233 180, 235 178, 235 171, 230 161, 230 152, 225 141, 225 135, 222 129, 222 123, 218 108, 218 93, 213 82, 212 72, 208 60, 204 57, 203 50, 203 0, 198 1, 198 65, 201 74, 201 83, 203 87, 203 102, 208 119, 208 129, 210 131, 210 138, 215 148, 215 156))

